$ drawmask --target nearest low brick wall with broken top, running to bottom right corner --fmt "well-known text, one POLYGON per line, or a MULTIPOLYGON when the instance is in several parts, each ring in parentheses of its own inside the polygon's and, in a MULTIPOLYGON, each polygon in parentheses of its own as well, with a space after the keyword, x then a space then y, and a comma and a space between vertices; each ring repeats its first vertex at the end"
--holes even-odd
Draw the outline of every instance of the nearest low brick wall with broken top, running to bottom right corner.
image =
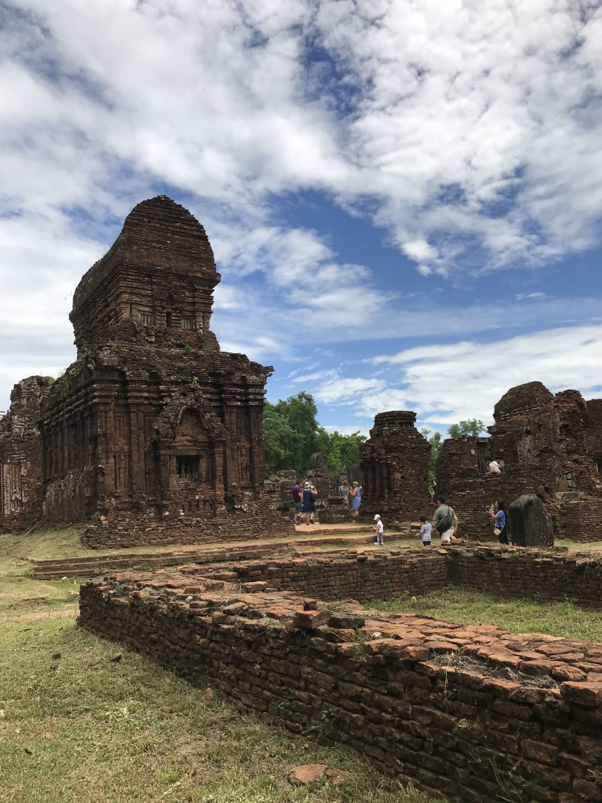
MULTIPOLYGON (((377 573, 383 561, 368 566, 377 573)), ((328 612, 266 581, 241 589, 181 573, 89 581, 80 611, 83 626, 211 683, 242 710, 348 744, 432 793, 602 801, 600 644, 369 618, 358 604, 328 612)))

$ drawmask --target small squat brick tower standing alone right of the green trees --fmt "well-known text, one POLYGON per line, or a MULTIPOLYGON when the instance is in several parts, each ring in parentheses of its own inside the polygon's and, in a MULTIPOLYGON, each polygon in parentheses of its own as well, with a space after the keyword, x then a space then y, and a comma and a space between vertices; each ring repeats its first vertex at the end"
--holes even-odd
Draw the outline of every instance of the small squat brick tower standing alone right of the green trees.
POLYGON ((375 416, 370 438, 360 444, 361 516, 380 513, 385 523, 429 516, 430 445, 415 421, 409 410, 375 416))

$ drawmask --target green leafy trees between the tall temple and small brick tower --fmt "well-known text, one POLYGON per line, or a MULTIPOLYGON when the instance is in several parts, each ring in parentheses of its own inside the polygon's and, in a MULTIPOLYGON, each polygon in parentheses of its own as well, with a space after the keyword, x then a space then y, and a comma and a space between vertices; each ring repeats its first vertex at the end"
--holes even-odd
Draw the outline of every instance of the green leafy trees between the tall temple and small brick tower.
POLYGON ((266 474, 283 469, 299 473, 311 467, 311 455, 321 451, 329 471, 343 472, 345 466, 360 462, 364 435, 327 432, 319 426, 318 408, 310 393, 297 393, 276 404, 266 402, 263 410, 263 449, 266 474))

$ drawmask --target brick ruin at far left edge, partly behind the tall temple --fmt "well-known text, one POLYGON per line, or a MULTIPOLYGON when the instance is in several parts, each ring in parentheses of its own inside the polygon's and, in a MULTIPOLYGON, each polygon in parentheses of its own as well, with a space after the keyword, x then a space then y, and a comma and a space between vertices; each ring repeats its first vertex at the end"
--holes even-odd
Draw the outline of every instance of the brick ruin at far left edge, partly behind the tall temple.
POLYGON ((14 385, 10 410, 0 418, 0 529, 24 532, 42 515, 42 447, 38 420, 49 377, 14 385))

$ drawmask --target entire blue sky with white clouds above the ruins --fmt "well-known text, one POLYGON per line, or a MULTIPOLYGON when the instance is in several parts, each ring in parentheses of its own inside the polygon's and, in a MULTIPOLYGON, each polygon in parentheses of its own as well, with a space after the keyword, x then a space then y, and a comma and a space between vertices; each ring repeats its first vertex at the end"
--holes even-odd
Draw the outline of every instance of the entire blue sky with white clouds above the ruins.
POLYGON ((602 9, 569 0, 0 2, 0 408, 75 357, 128 211, 205 225, 222 349, 323 425, 602 395, 602 9))

